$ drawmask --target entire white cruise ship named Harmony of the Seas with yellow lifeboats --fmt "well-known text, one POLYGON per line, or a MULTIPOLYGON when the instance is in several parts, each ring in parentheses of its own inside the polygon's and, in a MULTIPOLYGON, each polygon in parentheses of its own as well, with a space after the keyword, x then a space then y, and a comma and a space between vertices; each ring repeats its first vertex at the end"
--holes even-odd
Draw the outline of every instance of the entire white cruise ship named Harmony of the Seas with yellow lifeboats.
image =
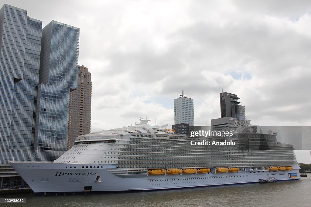
POLYGON ((52 163, 11 165, 37 195, 146 191, 256 183, 300 178, 293 145, 258 126, 231 129, 232 136, 175 134, 147 119, 129 127, 75 138, 73 147, 52 163), (235 145, 191 145, 232 141, 235 145))

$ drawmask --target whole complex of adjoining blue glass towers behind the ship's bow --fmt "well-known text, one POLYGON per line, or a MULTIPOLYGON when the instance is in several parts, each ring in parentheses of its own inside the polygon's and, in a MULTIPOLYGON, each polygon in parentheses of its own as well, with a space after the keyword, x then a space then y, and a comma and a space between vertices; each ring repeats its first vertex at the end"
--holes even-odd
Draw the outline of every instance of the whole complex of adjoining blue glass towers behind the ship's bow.
POLYGON ((79 28, 52 21, 42 29, 26 10, 0 9, 0 164, 53 161, 67 150, 78 48, 79 28))

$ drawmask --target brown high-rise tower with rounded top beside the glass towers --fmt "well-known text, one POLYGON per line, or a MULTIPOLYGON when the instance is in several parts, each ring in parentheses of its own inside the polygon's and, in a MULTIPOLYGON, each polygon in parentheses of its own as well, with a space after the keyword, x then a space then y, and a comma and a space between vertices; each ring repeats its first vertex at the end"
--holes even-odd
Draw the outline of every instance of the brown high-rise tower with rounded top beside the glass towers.
POLYGON ((91 132, 91 73, 84 65, 78 65, 77 90, 70 92, 68 145, 72 147, 74 138, 91 132))

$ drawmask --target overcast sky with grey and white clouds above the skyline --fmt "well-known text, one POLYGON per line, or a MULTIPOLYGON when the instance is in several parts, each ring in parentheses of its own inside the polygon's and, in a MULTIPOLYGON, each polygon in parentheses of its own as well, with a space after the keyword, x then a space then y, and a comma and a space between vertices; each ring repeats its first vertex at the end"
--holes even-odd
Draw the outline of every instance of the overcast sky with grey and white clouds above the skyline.
POLYGON ((3 1, 80 28, 92 73, 91 131, 174 124, 174 98, 194 99, 195 125, 237 94, 264 126, 310 126, 311 1, 3 1))

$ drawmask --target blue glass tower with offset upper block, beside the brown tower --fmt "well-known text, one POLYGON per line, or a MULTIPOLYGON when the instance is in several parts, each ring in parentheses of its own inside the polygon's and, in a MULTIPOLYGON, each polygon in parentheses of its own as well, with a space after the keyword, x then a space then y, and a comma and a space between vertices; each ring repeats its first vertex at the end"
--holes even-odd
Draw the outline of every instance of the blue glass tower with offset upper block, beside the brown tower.
POLYGON ((79 28, 51 21, 42 29, 34 146, 67 151, 69 93, 77 89, 79 28))

